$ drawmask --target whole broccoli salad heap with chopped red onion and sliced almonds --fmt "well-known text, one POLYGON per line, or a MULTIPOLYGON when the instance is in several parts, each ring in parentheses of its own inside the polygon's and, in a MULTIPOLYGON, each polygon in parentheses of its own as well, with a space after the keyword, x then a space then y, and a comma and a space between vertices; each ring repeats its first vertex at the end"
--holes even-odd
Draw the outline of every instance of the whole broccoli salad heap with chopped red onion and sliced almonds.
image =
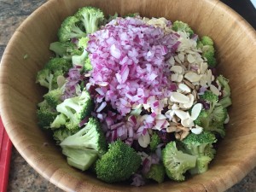
POLYGON ((93 7, 57 36, 38 71, 37 115, 70 166, 135 186, 207 172, 231 105, 212 38, 183 21, 93 7))

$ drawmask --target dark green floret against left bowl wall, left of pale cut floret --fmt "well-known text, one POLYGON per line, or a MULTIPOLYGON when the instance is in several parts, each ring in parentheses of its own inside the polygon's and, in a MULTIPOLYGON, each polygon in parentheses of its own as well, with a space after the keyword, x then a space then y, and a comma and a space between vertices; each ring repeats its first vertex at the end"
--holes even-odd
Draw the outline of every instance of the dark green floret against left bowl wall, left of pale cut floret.
POLYGON ((49 129, 50 124, 54 121, 58 113, 50 108, 45 100, 40 104, 41 106, 37 110, 38 126, 43 129, 49 129))

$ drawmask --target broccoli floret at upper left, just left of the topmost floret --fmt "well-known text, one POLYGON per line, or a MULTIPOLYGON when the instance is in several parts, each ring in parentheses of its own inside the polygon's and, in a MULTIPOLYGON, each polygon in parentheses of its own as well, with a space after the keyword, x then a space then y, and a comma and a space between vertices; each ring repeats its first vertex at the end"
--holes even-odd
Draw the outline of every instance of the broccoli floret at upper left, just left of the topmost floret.
POLYGON ((71 38, 82 38, 86 33, 79 28, 80 20, 75 16, 68 16, 61 23, 61 28, 58 31, 58 37, 61 42, 69 41, 71 38))

